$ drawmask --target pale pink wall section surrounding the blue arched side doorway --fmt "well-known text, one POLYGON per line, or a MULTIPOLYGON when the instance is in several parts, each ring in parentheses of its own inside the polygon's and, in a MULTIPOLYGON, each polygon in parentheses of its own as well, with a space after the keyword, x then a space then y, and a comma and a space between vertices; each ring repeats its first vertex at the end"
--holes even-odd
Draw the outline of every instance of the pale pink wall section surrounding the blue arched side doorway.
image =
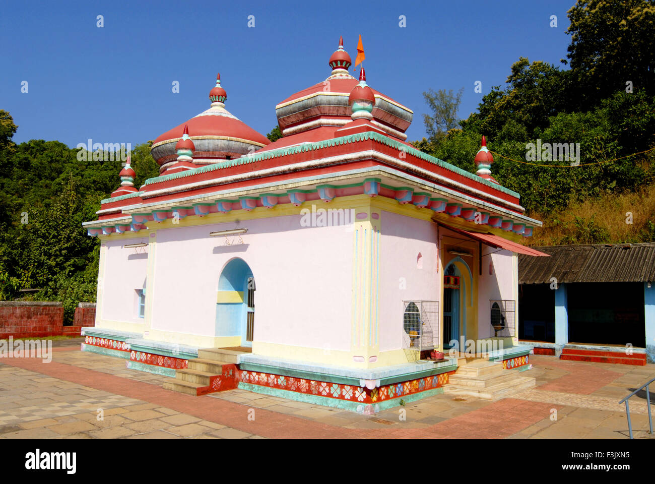
POLYGON ((159 230, 152 329, 223 336, 215 334, 216 291, 221 270, 238 257, 257 288, 255 341, 350 350, 352 225, 348 232, 300 220, 245 220, 244 245, 231 246, 209 233, 234 222, 159 230))

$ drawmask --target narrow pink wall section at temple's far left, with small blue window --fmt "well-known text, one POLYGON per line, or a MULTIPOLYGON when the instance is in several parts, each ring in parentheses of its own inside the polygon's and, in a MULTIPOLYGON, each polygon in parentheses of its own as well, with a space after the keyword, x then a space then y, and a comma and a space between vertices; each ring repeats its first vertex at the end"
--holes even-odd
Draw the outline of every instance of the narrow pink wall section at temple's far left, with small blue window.
POLYGON ((126 249, 125 244, 147 242, 148 238, 107 240, 105 273, 102 284, 102 304, 96 317, 107 321, 143 323, 138 317, 137 289, 143 288, 147 273, 148 247, 126 249))

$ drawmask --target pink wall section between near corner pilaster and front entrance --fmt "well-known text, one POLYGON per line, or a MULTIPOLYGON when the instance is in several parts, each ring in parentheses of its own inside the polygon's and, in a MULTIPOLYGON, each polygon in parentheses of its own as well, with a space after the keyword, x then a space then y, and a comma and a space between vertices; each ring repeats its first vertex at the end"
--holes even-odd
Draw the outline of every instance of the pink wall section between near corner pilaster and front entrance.
POLYGON ((433 222, 381 214, 380 351, 402 348, 403 300, 439 300, 437 228, 433 222), (417 260, 421 253, 422 268, 417 260), (405 289, 402 289, 404 278, 405 289))

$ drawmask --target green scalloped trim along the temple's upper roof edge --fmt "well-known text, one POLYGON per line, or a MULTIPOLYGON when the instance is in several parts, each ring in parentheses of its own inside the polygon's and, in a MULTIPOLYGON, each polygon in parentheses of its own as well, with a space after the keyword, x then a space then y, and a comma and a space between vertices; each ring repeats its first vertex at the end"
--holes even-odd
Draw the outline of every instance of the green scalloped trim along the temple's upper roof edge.
MULTIPOLYGON (((168 175, 156 176, 155 178, 149 178, 148 180, 145 180, 145 184, 152 185, 155 183, 168 182, 170 180, 184 178, 185 176, 193 176, 196 174, 212 172, 223 168, 231 168, 239 165, 246 165, 248 163, 256 163, 257 161, 279 158, 288 155, 295 155, 307 151, 322 150, 323 148, 331 148, 333 146, 341 146, 348 143, 355 143, 355 142, 367 141, 367 140, 377 141, 381 144, 384 144, 385 146, 390 146, 391 148, 394 148, 396 150, 402 150, 405 153, 410 153, 411 155, 419 159, 428 161, 428 163, 432 163, 433 165, 437 165, 438 167, 441 167, 453 173, 457 173, 461 176, 469 178, 470 180, 475 180, 476 182, 489 186, 489 188, 493 188, 495 190, 498 190, 499 192, 507 193, 508 195, 512 195, 513 197, 520 198, 520 195, 518 193, 514 192, 513 190, 510 190, 509 188, 505 188, 504 186, 495 184, 493 182, 489 182, 489 180, 485 180, 484 178, 481 178, 480 176, 477 176, 474 173, 468 172, 466 170, 462 170, 461 168, 458 168, 455 165, 451 165, 450 163, 446 163, 445 161, 439 158, 428 155, 427 153, 423 153, 422 151, 413 148, 413 146, 407 146, 406 144, 403 144, 400 141, 392 140, 392 138, 389 138, 388 136, 384 136, 383 134, 377 132, 371 132, 371 131, 357 133, 357 134, 350 134, 348 136, 341 136, 339 138, 330 138, 329 140, 322 140, 314 143, 305 142, 298 146, 278 148, 277 150, 263 151, 261 153, 253 153, 252 155, 246 155, 240 158, 226 160, 221 163, 204 165, 204 167, 198 167, 193 170, 187 170, 187 171, 168 174, 168 175)), ((123 195, 122 197, 116 197, 116 199, 135 196, 140 193, 142 192, 137 192, 134 195, 123 195)))

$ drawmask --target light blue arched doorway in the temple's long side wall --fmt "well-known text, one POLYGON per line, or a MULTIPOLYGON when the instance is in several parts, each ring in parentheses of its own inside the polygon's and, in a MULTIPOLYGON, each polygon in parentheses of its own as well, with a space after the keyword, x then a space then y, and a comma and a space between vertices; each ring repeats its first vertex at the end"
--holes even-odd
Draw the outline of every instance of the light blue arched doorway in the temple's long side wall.
POLYGON ((252 346, 255 334, 255 278, 241 258, 225 265, 218 281, 216 335, 240 336, 241 346, 252 346))

